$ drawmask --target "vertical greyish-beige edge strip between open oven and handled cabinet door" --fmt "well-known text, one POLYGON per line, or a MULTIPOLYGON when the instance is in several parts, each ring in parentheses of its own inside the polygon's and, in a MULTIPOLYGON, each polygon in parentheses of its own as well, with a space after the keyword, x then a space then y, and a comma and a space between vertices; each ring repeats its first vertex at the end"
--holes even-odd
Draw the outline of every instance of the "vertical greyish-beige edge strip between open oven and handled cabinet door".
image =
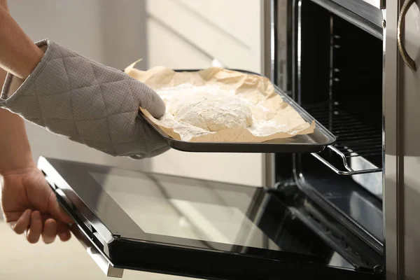
POLYGON ((397 27, 400 1, 388 1, 384 11, 384 177, 383 214, 385 267, 387 280, 405 279, 404 226, 402 192, 404 188, 403 160, 401 151, 402 94, 398 94, 401 63, 398 54, 397 27))

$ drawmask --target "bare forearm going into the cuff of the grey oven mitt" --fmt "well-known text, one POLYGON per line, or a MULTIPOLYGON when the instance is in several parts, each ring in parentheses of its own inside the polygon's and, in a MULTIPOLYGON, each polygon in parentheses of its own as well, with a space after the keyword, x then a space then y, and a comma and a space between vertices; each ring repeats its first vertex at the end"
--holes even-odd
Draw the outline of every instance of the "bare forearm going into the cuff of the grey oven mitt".
MULTIPOLYGON (((0 4, 6 1, 0 0, 0 4)), ((34 42, 0 5, 0 67, 19 78, 27 78, 43 57, 34 42)))

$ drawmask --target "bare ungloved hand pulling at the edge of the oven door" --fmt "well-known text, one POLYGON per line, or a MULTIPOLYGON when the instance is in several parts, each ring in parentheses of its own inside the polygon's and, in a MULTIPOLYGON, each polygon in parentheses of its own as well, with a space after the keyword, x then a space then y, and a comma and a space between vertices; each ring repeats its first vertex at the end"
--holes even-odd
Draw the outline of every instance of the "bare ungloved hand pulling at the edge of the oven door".
POLYGON ((33 162, 28 168, 3 174, 1 204, 6 223, 18 235, 26 233, 31 244, 40 237, 45 244, 57 235, 62 241, 71 238, 68 224, 73 221, 33 162))

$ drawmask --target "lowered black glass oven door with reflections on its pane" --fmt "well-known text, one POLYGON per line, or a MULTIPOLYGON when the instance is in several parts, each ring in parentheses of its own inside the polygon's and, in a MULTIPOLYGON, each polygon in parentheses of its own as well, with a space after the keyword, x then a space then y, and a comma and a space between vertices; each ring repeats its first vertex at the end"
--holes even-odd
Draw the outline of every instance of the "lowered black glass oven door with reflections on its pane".
POLYGON ((377 279, 264 188, 46 158, 38 167, 108 276, 135 269, 202 279, 377 279))

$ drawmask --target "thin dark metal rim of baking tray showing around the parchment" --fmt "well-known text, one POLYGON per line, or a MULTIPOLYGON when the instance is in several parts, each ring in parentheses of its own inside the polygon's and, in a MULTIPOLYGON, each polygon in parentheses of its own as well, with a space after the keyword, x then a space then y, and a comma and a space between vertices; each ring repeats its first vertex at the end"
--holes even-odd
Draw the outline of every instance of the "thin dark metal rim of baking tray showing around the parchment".
MULTIPOLYGON (((232 69, 233 71, 239 71, 242 73, 249 73, 253 75, 262 76, 259 73, 253 73, 251 71, 232 69)), ((186 70, 175 70, 175 71, 200 71, 198 69, 186 69, 186 70)), ((329 132, 321 123, 312 118, 307 111, 304 111, 299 104, 291 99, 286 93, 281 91, 279 87, 274 85, 274 90, 283 98, 285 102, 290 104, 300 116, 311 123, 315 121, 315 130, 312 134, 296 135, 286 139, 276 139, 273 141, 267 141, 263 143, 233 143, 233 142, 188 142, 179 141, 168 137, 161 130, 151 124, 148 120, 140 114, 144 120, 146 120, 153 129, 156 130, 164 139, 167 144, 176 150, 184 152, 195 152, 195 153, 318 153, 323 149, 335 142, 335 136, 329 132)))

